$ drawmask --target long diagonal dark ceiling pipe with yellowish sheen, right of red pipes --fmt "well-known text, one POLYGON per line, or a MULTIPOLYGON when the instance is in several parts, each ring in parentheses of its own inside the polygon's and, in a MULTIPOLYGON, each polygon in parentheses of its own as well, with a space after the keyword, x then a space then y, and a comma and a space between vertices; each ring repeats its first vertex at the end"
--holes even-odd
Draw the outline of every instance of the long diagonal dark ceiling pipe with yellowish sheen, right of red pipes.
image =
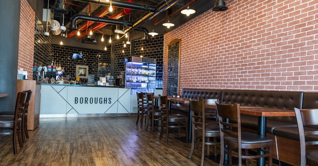
MULTIPOLYGON (((143 23, 147 22, 148 20, 152 19, 154 16, 158 15, 159 13, 169 9, 171 6, 175 5, 176 3, 180 2, 181 0, 163 0, 162 2, 156 5, 156 11, 154 13, 146 13, 143 16, 140 16, 138 20, 134 22, 132 27, 128 27, 125 29, 125 33, 130 32, 131 30, 139 27, 143 23)), ((122 36, 121 36, 122 37, 122 36)))

